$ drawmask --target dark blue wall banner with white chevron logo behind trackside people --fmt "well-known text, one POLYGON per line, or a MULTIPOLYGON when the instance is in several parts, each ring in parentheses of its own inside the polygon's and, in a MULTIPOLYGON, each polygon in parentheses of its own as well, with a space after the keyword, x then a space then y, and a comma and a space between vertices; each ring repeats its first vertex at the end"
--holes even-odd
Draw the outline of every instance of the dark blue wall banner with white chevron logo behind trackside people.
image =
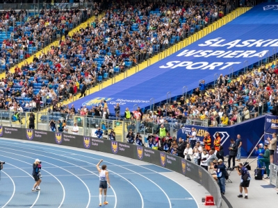
MULTIPOLYGON (((204 132, 208 132, 211 135, 212 139, 212 146, 213 141, 215 139, 215 135, 218 132, 221 137, 221 145, 224 148, 225 155, 229 154, 229 145, 230 139, 236 140, 237 135, 240 135, 241 139, 243 139, 243 145, 241 148, 241 155, 243 157, 247 157, 252 152, 253 148, 261 139, 263 135, 263 124, 265 121, 265 117, 261 116, 257 119, 252 119, 251 121, 245 121, 242 123, 238 123, 236 125, 231 125, 227 127, 202 127, 197 125, 186 125, 185 127, 181 128, 181 130, 177 133, 177 138, 179 137, 185 139, 186 134, 191 133, 191 128, 195 128, 197 132, 197 139, 199 141, 203 141, 204 139, 204 132)), ((271 135, 270 135, 271 137, 271 135)), ((261 143, 264 143, 264 138, 261 139, 261 143)))

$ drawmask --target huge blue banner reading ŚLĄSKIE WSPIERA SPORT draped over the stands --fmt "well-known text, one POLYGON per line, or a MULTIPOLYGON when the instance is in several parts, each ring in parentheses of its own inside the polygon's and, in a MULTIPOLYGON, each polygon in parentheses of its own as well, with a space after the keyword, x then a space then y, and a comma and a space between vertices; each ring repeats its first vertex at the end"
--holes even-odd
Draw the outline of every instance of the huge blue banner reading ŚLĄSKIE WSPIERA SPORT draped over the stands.
MULTIPOLYGON (((268 55, 277 53, 278 12, 269 8, 277 3, 264 3, 186 46, 177 53, 167 56, 133 76, 110 85, 99 92, 74 102, 76 107, 97 105, 106 100, 111 114, 119 103, 124 109, 137 104, 149 107, 152 102, 165 101, 167 96, 181 96, 199 86, 199 80, 212 83, 216 76, 236 73, 240 69, 261 62, 268 55), (267 32, 266 32, 267 31, 267 32), (170 94, 167 94, 170 92, 170 94)), ((129 72, 127 72, 129 75, 129 72)))

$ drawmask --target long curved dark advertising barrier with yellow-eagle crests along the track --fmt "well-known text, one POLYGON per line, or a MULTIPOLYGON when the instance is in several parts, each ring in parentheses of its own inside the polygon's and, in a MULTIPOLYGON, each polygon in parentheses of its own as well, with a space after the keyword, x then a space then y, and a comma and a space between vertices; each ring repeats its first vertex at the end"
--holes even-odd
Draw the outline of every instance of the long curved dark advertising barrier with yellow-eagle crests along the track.
MULTIPOLYGON (((211 196, 213 196, 215 200, 215 205, 217 205, 218 208, 222 207, 220 189, 211 174, 201 166, 197 166, 196 164, 175 155, 119 141, 26 128, 0 126, 0 137, 40 141, 49 144, 97 150, 104 153, 113 153, 156 164, 177 173, 181 173, 201 184, 209 193, 211 193, 211 196)), ((202 197, 204 196, 200 196, 200 200, 202 197)))

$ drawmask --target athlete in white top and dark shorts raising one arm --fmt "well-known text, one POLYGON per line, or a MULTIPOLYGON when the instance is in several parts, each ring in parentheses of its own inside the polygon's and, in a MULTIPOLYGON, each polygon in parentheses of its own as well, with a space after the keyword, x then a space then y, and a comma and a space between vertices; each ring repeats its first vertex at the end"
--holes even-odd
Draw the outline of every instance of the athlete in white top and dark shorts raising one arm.
POLYGON ((104 205, 108 205, 108 202, 106 202, 107 184, 108 184, 108 188, 110 188, 110 180, 108 176, 108 171, 106 170, 106 165, 102 165, 101 168, 99 168, 99 165, 103 161, 104 160, 101 159, 97 164, 97 171, 99 171, 99 207, 101 207, 101 198, 102 198, 103 191, 104 191, 104 205))

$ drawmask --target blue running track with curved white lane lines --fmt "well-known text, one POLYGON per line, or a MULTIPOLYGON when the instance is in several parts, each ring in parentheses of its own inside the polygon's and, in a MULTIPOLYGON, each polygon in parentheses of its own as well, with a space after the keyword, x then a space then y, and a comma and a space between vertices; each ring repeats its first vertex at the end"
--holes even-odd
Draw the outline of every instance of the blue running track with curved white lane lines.
POLYGON ((112 157, 0 139, 0 207, 99 207, 99 159, 108 166, 111 189, 103 207, 197 208, 193 196, 161 173, 171 172, 153 164, 136 165, 112 157), (32 164, 42 161, 41 191, 31 192, 32 164))

